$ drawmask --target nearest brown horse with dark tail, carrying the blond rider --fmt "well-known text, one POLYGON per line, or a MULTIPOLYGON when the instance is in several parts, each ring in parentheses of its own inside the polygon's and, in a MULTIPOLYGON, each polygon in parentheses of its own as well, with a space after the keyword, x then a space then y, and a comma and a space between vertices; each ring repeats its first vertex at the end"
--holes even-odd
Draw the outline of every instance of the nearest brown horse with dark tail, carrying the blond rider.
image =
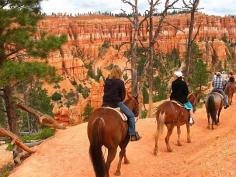
MULTIPOLYGON (((139 105, 136 97, 129 97, 125 104, 135 116, 138 116, 139 105)), ((126 146, 130 140, 127 122, 122 120, 117 111, 101 107, 90 116, 87 131, 90 141, 89 153, 96 177, 109 177, 109 168, 116 156, 118 146, 121 151, 115 175, 120 175, 123 157, 124 163, 129 163, 126 157, 126 146), (106 163, 101 149, 103 145, 108 149, 106 163)))

